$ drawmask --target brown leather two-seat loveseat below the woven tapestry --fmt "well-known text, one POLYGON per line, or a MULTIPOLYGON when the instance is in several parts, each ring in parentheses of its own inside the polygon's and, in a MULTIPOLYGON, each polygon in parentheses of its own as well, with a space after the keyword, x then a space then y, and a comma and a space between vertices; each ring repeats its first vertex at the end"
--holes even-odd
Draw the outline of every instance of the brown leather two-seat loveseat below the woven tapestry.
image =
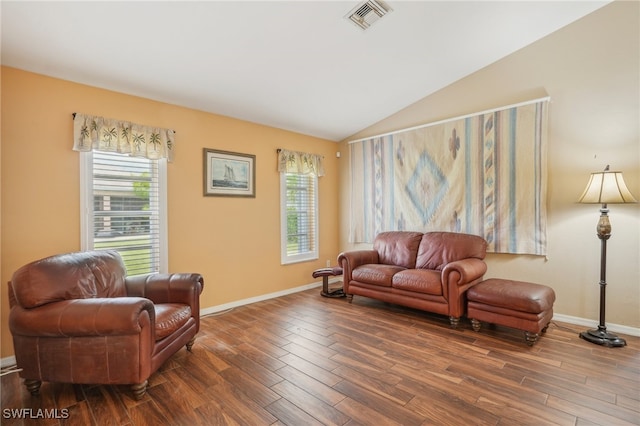
POLYGON ((343 252, 344 292, 449 316, 457 327, 466 291, 487 270, 487 242, 453 232, 378 234, 372 250, 343 252))

